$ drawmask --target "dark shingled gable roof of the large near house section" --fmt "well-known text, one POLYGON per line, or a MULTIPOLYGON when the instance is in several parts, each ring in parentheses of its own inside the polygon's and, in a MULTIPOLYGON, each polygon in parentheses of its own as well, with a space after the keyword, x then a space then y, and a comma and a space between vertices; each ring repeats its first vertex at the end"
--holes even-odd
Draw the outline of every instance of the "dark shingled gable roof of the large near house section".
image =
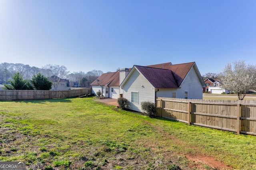
POLYGON ((129 76, 132 74, 134 69, 137 69, 149 81, 149 83, 151 83, 151 85, 156 89, 179 88, 192 67, 196 69, 196 73, 200 79, 200 82, 202 86, 204 86, 204 82, 198 71, 198 68, 196 67, 195 62, 175 64, 175 65, 172 65, 171 63, 164 63, 164 64, 157 64, 157 65, 150 65, 147 67, 134 65, 134 67, 132 68, 132 71, 129 72, 127 77, 122 82, 121 86, 129 78, 129 76), (162 68, 163 66, 164 66, 164 69, 162 68))

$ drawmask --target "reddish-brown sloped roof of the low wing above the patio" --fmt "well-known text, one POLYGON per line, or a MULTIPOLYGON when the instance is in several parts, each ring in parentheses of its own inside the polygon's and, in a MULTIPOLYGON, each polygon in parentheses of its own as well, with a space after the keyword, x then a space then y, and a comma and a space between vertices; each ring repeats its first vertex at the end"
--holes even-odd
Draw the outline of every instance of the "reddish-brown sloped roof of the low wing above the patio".
POLYGON ((119 86, 119 71, 111 73, 103 73, 94 80, 90 85, 110 85, 110 86, 119 86))

